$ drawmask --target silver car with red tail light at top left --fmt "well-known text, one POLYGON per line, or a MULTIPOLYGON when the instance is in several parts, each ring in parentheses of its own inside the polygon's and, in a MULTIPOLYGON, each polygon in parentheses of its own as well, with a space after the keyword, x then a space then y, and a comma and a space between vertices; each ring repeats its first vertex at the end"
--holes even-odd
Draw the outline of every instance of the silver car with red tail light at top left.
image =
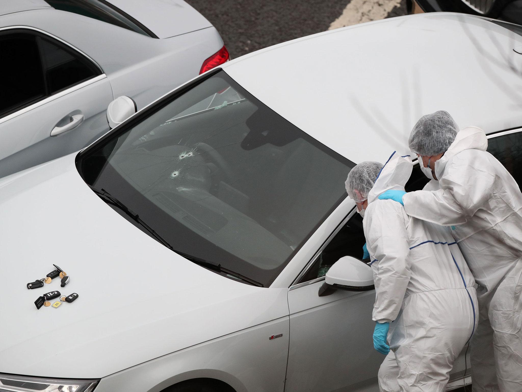
POLYGON ((229 57, 183 0, 2 0, 0 53, 0 177, 98 139, 115 98, 139 110, 229 57))

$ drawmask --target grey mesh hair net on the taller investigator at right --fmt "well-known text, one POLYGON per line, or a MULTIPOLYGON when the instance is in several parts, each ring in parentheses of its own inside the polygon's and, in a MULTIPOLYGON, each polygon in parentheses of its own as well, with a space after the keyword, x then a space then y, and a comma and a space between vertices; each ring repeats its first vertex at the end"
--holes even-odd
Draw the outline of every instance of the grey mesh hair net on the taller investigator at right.
POLYGON ((455 140, 458 126, 445 110, 422 116, 413 127, 408 144, 411 151, 424 156, 446 152, 455 140))

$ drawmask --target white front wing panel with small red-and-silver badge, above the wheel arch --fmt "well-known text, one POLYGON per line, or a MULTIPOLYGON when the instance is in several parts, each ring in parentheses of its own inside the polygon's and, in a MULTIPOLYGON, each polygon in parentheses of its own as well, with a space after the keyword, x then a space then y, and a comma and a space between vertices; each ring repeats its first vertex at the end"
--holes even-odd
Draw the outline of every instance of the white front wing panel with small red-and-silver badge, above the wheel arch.
POLYGON ((187 379, 211 377, 227 383, 236 392, 282 392, 288 324, 288 317, 283 317, 165 355, 102 378, 96 391, 159 392, 187 379), (282 333, 282 337, 269 340, 274 331, 282 333))

